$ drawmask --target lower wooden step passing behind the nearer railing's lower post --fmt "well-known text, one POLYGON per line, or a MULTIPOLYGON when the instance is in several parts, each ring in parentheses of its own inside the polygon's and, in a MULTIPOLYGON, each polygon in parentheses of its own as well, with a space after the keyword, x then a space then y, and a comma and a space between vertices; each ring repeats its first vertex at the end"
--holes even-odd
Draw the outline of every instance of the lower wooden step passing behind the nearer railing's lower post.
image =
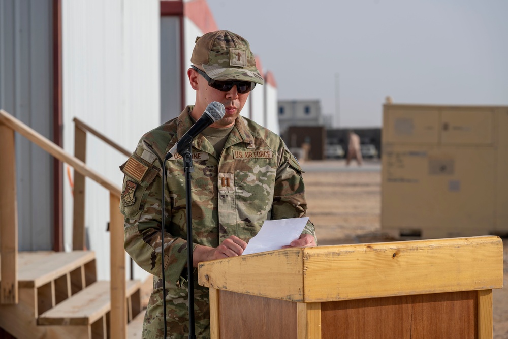
MULTIPOLYGON (((137 280, 126 282, 130 319, 135 318, 141 311, 140 286, 141 283, 137 280)), ((110 282, 98 281, 41 314, 37 324, 93 325, 96 322, 103 323, 104 320, 107 323, 110 309, 110 282)))

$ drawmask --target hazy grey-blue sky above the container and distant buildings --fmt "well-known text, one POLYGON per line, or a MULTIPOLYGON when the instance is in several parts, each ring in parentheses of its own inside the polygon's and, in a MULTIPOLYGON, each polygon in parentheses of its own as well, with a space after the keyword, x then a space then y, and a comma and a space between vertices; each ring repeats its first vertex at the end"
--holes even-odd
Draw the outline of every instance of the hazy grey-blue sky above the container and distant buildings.
POLYGON ((218 28, 246 38, 273 72, 279 99, 319 99, 328 115, 338 102, 341 127, 381 126, 388 95, 394 103, 508 105, 508 0, 208 5, 218 28))

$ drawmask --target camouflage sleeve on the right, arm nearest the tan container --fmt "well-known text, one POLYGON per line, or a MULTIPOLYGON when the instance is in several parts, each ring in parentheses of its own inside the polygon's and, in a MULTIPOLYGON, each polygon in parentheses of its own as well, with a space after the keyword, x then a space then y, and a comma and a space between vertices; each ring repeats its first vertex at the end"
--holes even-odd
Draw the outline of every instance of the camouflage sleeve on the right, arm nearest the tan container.
MULTIPOLYGON (((271 219, 306 217, 307 201, 302 173, 304 171, 295 156, 284 148, 275 178, 271 219)), ((314 224, 310 220, 303 233, 312 235, 317 244, 314 224)))

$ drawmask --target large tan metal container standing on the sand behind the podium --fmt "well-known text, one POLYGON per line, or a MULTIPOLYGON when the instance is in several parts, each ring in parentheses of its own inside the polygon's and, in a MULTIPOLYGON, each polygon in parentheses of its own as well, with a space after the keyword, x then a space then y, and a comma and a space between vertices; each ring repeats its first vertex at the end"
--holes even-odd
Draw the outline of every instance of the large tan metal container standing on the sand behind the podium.
POLYGON ((381 227, 508 234, 508 107, 386 104, 381 227))

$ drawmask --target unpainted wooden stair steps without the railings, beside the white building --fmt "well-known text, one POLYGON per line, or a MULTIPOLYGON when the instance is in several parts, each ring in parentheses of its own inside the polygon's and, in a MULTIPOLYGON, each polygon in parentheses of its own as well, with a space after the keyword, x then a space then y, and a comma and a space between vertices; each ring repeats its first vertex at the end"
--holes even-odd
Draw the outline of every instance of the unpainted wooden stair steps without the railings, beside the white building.
MULTIPOLYGON (((141 282, 126 282, 128 337, 140 337, 141 282)), ((18 339, 110 337, 110 283, 93 252, 19 252, 19 302, 0 305, 0 328, 18 339)))

